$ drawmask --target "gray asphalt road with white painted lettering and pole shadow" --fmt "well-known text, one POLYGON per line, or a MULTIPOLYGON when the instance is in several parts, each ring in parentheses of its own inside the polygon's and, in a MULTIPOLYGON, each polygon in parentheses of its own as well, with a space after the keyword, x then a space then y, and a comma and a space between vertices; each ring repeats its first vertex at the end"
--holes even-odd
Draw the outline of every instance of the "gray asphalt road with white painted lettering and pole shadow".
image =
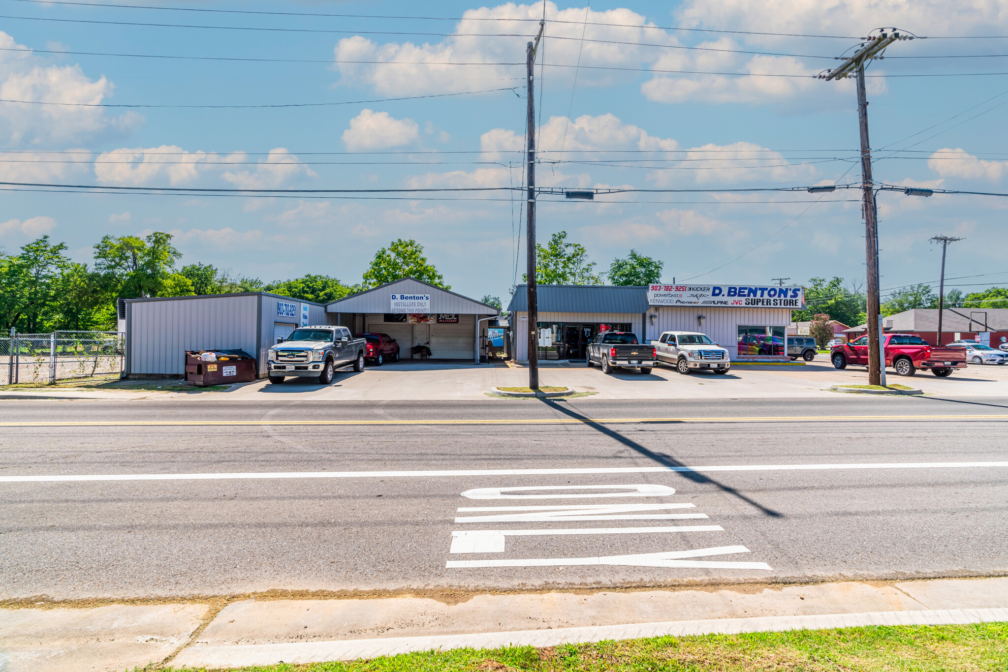
POLYGON ((1006 427, 976 397, 0 401, 0 596, 1003 574, 1006 427), (68 476, 101 480, 10 481, 68 476))

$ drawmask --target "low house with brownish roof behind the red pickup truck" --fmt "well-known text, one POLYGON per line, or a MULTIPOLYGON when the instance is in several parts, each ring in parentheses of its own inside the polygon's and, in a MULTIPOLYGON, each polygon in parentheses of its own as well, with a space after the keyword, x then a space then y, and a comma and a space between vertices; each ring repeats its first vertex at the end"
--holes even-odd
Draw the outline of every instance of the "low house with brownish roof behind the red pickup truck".
MULTIPOLYGON (((851 341, 863 335, 867 325, 844 329, 851 341)), ((882 318, 882 328, 886 333, 916 333, 930 344, 937 345, 937 308, 913 308, 882 318)), ((946 308, 941 311, 941 345, 953 341, 986 341, 997 348, 1001 339, 1008 341, 1008 308, 946 308), (990 335, 982 335, 989 333, 990 335)))

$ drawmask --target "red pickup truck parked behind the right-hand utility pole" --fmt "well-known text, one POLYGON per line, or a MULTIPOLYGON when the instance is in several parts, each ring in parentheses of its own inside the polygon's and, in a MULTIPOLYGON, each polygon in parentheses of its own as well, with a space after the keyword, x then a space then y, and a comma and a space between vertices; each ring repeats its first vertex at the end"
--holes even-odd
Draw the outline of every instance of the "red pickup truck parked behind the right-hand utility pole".
MULTIPOLYGON (((955 369, 966 368, 966 348, 959 346, 931 346, 913 333, 886 333, 885 365, 896 370, 897 376, 912 376, 917 369, 930 369, 935 376, 944 378, 955 369)), ((849 364, 868 365, 868 337, 851 343, 834 346, 830 360, 837 369, 849 364)))

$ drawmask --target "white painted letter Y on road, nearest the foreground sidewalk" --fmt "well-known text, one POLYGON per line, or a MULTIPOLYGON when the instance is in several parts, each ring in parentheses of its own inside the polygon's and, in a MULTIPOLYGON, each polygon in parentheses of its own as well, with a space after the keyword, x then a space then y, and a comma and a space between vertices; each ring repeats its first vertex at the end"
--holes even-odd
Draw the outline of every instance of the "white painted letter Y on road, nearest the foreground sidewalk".
POLYGON ((731 562, 711 560, 681 560, 679 558, 705 557, 748 553, 745 546, 719 546, 697 548, 689 551, 665 553, 638 553, 635 555, 606 555, 592 558, 530 558, 527 560, 449 560, 448 568, 472 567, 550 567, 575 565, 623 565, 632 567, 707 567, 711 569, 773 569, 765 562, 731 562))

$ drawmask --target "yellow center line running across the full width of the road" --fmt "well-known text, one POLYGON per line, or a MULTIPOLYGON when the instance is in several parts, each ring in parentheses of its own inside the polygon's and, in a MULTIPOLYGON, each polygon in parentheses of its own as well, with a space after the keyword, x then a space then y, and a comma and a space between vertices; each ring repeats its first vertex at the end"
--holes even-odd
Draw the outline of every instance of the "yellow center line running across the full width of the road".
POLYGON ((213 427, 269 425, 564 425, 677 422, 791 422, 809 420, 1005 420, 1005 415, 778 415, 699 418, 528 418, 473 420, 84 420, 79 422, 0 422, 0 427, 213 427))

